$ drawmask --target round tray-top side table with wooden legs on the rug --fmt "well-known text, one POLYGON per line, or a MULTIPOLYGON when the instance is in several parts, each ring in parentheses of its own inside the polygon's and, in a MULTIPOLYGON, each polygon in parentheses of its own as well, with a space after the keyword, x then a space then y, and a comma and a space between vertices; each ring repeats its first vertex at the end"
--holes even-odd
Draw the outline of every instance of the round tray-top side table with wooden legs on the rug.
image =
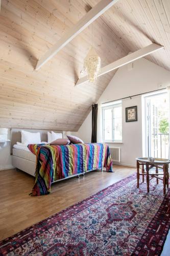
POLYGON ((170 160, 163 158, 155 158, 154 162, 149 161, 147 157, 136 158, 137 164, 137 187, 139 187, 139 178, 142 176, 142 182, 144 182, 144 176, 147 176, 147 191, 150 191, 150 180, 156 178, 157 184, 159 180, 163 181, 163 194, 166 193, 166 187, 168 188, 169 173, 168 164, 170 160), (141 173, 139 172, 139 167, 142 165, 141 173), (144 168, 145 167, 145 168, 144 168), (150 170, 155 167, 155 173, 150 173, 150 170), (163 169, 163 173, 158 172, 158 168, 163 169), (151 176, 151 178, 150 178, 151 176), (163 176, 160 178, 159 176, 163 176))

